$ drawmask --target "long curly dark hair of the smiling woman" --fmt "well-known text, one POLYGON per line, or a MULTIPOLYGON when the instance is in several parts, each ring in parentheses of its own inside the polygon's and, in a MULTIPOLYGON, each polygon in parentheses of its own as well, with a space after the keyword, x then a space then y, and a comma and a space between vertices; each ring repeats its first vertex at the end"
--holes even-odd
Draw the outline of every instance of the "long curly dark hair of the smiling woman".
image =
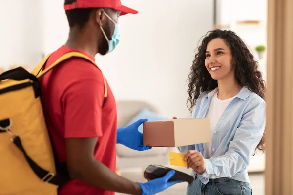
MULTIPOLYGON (((207 33, 198 47, 198 52, 195 54, 195 59, 192 62, 191 71, 188 76, 189 97, 187 106, 189 105, 189 111, 192 112, 192 108, 202 92, 215 89, 218 86, 217 80, 211 78, 205 66, 207 45, 215 38, 223 39, 231 50, 232 65, 235 66, 235 77, 238 83, 241 86, 247 86, 249 90, 264 99, 265 82, 261 72, 258 71, 257 61, 254 60, 244 41, 233 31, 216 29, 207 33)), ((256 147, 259 151, 265 150, 264 135, 256 147)))

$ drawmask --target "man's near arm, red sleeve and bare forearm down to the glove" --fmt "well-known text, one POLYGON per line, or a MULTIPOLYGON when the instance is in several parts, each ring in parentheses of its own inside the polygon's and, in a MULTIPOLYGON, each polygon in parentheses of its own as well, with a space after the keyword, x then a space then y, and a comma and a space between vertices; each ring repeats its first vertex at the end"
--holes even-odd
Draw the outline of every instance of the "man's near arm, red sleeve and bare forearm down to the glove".
POLYGON ((94 158, 98 137, 103 136, 105 86, 101 71, 82 59, 65 64, 61 69, 58 76, 64 83, 60 86, 63 87, 61 105, 70 177, 100 189, 141 195, 137 183, 118 176, 94 158))

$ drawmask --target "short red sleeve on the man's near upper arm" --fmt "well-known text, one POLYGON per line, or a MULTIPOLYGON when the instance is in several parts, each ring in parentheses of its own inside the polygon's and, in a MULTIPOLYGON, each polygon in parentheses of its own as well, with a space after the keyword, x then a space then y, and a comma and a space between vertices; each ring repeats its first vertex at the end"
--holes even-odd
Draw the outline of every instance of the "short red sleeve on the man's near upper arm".
POLYGON ((103 79, 99 78, 84 78, 66 87, 61 99, 64 138, 103 135, 101 122, 104 92, 103 79))

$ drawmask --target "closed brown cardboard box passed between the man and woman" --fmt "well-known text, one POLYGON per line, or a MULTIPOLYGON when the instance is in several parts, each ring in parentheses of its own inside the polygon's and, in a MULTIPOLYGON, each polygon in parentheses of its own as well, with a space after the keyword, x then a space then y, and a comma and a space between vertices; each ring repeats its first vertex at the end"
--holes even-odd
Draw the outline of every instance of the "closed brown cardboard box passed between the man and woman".
POLYGON ((144 145, 178 147, 210 142, 209 118, 144 122, 144 145))

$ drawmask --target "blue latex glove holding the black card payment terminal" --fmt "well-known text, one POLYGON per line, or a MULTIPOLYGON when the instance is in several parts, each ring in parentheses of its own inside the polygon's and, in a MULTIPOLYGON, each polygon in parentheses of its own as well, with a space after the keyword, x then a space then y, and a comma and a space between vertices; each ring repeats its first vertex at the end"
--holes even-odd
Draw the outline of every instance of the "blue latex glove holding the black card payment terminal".
POLYGON ((169 181, 168 180, 175 174, 174 170, 169 171, 165 176, 153 179, 146 183, 137 183, 142 189, 142 195, 157 194, 168 187, 181 183, 183 181, 169 181))

